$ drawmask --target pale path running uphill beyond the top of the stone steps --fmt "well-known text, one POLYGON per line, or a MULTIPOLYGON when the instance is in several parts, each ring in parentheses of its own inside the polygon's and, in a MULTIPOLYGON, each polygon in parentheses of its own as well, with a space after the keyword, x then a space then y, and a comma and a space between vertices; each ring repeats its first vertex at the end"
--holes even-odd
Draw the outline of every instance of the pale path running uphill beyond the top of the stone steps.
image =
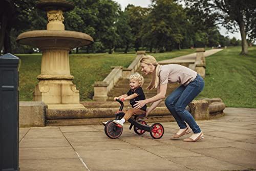
MULTIPOLYGON (((223 49, 211 49, 204 52, 204 56, 210 56, 212 54, 215 54, 219 51, 222 51, 223 49)), ((191 53, 184 56, 175 57, 173 59, 166 59, 158 61, 158 63, 178 63, 178 62, 194 62, 196 60, 197 53, 191 53)))

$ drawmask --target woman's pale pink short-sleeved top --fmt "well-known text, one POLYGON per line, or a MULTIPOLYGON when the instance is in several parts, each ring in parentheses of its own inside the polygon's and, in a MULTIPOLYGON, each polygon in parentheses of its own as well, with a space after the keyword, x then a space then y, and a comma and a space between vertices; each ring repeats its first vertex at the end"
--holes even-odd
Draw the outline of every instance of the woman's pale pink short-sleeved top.
POLYGON ((159 68, 160 85, 169 82, 179 82, 180 84, 187 86, 187 84, 193 81, 196 76, 196 71, 177 64, 164 65, 159 68))

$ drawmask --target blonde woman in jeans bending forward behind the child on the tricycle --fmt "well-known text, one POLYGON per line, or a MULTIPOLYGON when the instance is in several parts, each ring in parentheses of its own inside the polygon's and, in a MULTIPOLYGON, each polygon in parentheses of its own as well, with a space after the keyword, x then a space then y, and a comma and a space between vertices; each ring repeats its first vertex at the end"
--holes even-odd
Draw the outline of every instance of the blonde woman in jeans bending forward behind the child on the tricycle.
POLYGON ((180 127, 180 130, 173 135, 172 138, 179 138, 190 133, 189 127, 192 129, 194 134, 183 141, 195 142, 204 138, 204 134, 197 125, 195 119, 185 109, 188 103, 190 103, 203 90, 203 78, 197 74, 197 72, 181 65, 170 64, 161 66, 157 63, 156 59, 150 55, 142 57, 140 62, 141 71, 145 75, 153 74, 153 78, 147 89, 152 90, 157 88, 157 95, 145 100, 136 101, 137 103, 134 108, 140 109, 145 104, 153 102, 151 107, 146 111, 147 116, 158 106, 162 99, 165 98, 167 83, 178 82, 180 83, 180 87, 165 99, 166 107, 170 113, 172 113, 180 127))

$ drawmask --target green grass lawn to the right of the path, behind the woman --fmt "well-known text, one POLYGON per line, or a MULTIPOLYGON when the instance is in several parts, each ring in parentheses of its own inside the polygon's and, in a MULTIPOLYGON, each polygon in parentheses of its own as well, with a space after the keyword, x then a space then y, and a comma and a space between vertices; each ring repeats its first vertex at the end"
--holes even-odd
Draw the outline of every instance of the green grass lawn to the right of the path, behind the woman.
POLYGON ((248 56, 239 55, 241 47, 206 57, 205 88, 200 97, 220 97, 229 107, 256 108, 256 47, 248 56))

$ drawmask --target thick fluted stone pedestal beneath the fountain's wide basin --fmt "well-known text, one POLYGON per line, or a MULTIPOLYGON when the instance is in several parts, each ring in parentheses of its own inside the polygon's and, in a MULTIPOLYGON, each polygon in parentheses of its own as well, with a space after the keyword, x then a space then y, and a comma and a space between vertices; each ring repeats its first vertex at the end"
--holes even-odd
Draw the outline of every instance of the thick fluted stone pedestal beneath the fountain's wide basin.
POLYGON ((34 101, 44 101, 49 109, 82 109, 79 91, 69 67, 70 49, 42 49, 41 74, 34 101))

